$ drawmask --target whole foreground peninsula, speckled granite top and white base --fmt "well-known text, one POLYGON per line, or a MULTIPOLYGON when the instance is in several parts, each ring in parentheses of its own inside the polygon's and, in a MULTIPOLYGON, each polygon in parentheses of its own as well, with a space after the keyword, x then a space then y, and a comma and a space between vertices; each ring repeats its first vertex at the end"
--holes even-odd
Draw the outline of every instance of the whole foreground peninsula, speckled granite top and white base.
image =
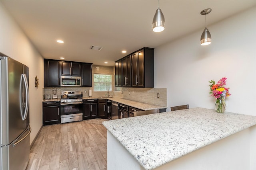
MULTIPOLYGON (((256 117, 192 108, 105 121, 108 169, 250 170, 256 117)), ((255 155, 254 155, 255 156, 255 155)))

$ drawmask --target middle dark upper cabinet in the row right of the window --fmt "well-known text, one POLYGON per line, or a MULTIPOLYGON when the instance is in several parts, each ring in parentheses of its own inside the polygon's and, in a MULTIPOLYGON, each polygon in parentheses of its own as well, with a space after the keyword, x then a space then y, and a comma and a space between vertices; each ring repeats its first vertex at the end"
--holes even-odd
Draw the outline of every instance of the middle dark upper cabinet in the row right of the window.
POLYGON ((122 59, 122 86, 123 87, 131 87, 131 55, 124 57, 122 59))

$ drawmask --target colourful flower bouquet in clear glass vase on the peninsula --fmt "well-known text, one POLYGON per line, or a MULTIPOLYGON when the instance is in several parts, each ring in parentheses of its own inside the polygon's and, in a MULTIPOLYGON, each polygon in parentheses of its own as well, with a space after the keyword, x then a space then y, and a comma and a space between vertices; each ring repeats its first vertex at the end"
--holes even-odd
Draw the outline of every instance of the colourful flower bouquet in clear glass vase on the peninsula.
POLYGON ((221 78, 217 84, 214 80, 209 81, 210 85, 210 94, 216 98, 215 110, 218 113, 224 113, 226 110, 225 98, 230 96, 229 88, 224 87, 226 85, 226 77, 221 78))

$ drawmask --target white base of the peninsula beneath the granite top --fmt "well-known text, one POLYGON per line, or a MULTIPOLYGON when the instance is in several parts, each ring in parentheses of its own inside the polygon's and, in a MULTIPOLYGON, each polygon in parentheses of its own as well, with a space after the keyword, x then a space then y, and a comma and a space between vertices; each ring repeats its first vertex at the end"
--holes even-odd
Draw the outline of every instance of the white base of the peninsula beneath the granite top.
MULTIPOLYGON (((108 170, 145 170, 108 131, 108 170)), ((155 170, 255 170, 256 125, 155 170)))

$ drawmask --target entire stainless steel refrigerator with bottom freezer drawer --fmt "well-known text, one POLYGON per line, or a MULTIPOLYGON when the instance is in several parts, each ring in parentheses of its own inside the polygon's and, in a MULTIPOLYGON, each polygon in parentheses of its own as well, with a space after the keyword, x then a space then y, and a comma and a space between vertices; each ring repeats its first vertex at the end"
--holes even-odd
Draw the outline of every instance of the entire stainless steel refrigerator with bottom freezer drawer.
POLYGON ((28 67, 0 53, 1 169, 25 170, 28 165, 28 67))

